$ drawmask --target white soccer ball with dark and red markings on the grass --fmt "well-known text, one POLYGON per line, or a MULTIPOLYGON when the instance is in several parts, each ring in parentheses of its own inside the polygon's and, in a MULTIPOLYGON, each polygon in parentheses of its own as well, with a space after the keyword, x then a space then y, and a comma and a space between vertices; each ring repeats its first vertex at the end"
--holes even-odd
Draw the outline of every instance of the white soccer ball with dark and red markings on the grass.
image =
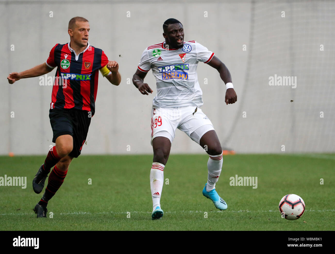
POLYGON ((303 216, 305 202, 298 195, 287 194, 279 202, 279 211, 282 216, 285 215, 285 219, 290 221, 297 220, 303 216))

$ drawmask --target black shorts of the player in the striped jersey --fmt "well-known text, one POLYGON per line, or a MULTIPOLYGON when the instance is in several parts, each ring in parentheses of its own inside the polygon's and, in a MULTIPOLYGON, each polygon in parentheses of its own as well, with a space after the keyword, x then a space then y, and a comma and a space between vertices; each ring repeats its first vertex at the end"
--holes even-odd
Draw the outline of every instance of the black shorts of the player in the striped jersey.
POLYGON ((78 109, 50 109, 49 118, 52 132, 52 142, 61 135, 71 135, 73 138, 73 150, 69 156, 77 158, 87 137, 91 117, 86 110, 78 109))

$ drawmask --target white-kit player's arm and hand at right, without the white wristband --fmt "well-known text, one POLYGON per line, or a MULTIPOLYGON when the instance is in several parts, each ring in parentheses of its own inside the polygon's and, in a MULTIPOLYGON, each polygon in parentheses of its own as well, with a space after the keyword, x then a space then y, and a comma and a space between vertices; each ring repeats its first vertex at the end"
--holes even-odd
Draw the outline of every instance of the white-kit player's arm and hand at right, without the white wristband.
MULTIPOLYGON (((215 68, 220 73, 220 77, 225 84, 231 83, 230 72, 220 59, 214 56, 207 64, 215 68)), ((226 90, 224 101, 226 105, 237 102, 237 95, 234 88, 228 88, 226 90)))

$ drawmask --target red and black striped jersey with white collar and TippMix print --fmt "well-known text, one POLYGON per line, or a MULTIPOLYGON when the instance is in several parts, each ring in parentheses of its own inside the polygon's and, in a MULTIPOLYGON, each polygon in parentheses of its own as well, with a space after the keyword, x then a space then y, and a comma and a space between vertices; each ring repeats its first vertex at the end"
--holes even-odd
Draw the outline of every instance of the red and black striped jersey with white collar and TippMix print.
POLYGON ((46 64, 57 67, 52 88, 50 108, 75 108, 95 112, 98 88, 98 70, 109 74, 108 58, 98 48, 90 46, 76 55, 70 43, 56 44, 50 51, 46 64))

